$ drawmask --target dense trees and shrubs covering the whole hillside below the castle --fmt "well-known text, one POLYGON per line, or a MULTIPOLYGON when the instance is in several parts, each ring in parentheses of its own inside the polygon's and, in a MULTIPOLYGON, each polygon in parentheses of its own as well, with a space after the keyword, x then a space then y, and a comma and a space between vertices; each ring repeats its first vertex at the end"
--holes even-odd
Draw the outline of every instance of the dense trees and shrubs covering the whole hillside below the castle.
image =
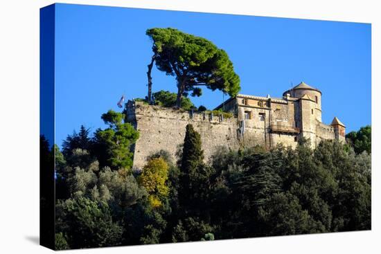
POLYGON ((179 158, 159 151, 131 170, 138 134, 118 114, 82 127, 56 158, 56 248, 186 242, 371 228, 371 156, 332 140, 230 151, 205 163, 186 127, 179 158), (123 145, 121 145, 123 143, 123 145), (119 150, 120 149, 120 150, 119 150), (131 157, 129 157, 131 158, 131 157), (128 161, 128 160, 127 160, 128 161))

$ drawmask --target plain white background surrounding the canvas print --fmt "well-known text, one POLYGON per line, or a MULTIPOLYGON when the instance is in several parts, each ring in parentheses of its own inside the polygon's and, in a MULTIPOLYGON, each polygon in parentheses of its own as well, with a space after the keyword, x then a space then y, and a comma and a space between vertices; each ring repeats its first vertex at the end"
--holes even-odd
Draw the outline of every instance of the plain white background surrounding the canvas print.
MULTIPOLYGON (((292 17, 372 24, 372 230, 290 237, 87 249, 81 253, 376 253, 380 219, 380 8, 377 1, 65 1, 103 6, 292 17)), ((53 1, 3 1, 0 39, 0 252, 47 253, 39 232, 39 8, 53 1)), ((342 84, 345 86, 345 84, 342 84)), ((68 251, 71 253, 71 251, 68 251)), ((65 252, 66 253, 66 252, 65 252)))

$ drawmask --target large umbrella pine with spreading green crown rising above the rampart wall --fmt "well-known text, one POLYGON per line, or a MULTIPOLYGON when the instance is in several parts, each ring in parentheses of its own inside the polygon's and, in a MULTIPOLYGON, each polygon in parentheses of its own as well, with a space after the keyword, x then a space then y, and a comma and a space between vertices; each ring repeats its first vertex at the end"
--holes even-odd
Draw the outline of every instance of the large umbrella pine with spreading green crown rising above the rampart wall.
POLYGON ((176 77, 177 107, 189 91, 192 96, 200 96, 200 86, 230 96, 236 96, 240 90, 240 78, 229 56, 209 40, 173 28, 148 29, 146 35, 152 39, 157 68, 176 77))

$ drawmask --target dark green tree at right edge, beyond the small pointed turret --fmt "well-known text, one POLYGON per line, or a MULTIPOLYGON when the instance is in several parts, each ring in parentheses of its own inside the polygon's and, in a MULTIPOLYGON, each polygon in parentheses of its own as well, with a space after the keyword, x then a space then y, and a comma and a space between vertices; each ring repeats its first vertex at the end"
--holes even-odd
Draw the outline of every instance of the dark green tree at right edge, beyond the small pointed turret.
POLYGON ((359 131, 351 131, 346 134, 346 139, 348 143, 353 146, 356 154, 361 154, 366 151, 368 154, 371 153, 372 149, 372 127, 371 125, 366 125, 361 127, 359 131))

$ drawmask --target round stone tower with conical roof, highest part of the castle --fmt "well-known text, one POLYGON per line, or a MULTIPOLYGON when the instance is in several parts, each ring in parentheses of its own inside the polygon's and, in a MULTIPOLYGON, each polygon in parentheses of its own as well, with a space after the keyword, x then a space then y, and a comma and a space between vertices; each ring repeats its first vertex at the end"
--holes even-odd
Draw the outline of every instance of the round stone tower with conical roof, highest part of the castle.
POLYGON ((287 94, 290 94, 292 98, 302 98, 304 95, 308 95, 310 100, 314 102, 311 108, 313 109, 313 118, 321 122, 321 91, 319 89, 301 82, 296 87, 285 91, 283 97, 287 97, 287 94))

